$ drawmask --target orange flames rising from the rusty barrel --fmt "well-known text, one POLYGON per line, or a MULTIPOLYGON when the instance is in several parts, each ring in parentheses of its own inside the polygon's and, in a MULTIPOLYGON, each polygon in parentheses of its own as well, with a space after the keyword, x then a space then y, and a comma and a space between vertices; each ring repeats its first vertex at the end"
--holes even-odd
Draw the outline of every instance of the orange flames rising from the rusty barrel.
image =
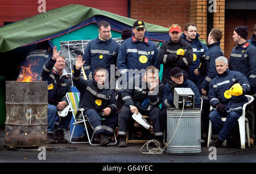
POLYGON ((38 77, 37 73, 33 73, 31 71, 31 65, 28 66, 21 66, 22 73, 19 74, 19 78, 16 79, 18 82, 35 82, 36 77, 38 77))

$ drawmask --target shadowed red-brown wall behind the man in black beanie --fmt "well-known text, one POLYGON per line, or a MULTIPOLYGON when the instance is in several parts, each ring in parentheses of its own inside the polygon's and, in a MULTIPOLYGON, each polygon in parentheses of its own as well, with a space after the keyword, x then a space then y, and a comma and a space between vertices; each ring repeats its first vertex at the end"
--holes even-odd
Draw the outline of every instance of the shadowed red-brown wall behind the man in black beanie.
POLYGON ((250 39, 253 34, 254 25, 256 24, 255 11, 249 10, 226 10, 225 13, 225 57, 229 58, 234 46, 233 31, 237 26, 248 26, 250 39))

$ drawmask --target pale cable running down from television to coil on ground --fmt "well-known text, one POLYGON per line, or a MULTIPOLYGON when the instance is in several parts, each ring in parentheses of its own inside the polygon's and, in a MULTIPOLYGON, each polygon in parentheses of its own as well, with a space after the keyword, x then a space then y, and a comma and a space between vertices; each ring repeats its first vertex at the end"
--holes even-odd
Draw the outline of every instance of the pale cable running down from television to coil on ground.
MULTIPOLYGON (((181 114, 180 114, 179 121, 178 121, 178 123, 177 123, 177 127, 176 127, 176 129, 175 129, 175 131, 174 131, 174 134, 172 135, 172 138, 174 138, 174 135, 176 134, 177 128, 178 128, 179 125, 180 125, 181 116, 182 116, 183 111, 184 111, 184 104, 185 104, 185 99, 183 99, 182 111, 181 111, 181 114)), ((167 145, 166 145, 164 148, 166 148, 166 147, 169 145, 169 143, 172 141, 172 138, 170 139, 170 141, 167 143, 167 145)), ((159 141, 157 141, 157 140, 155 140, 155 139, 152 139, 152 140, 150 140, 150 141, 147 141, 147 142, 141 147, 141 150, 140 150, 140 151, 141 151, 142 154, 163 154, 164 148, 161 148, 161 147, 160 147, 159 141), (156 147, 156 148, 152 148, 152 149, 150 150, 150 149, 148 148, 148 145, 149 145, 150 143, 155 143, 155 145, 156 145, 157 147, 156 147), (142 152, 142 151, 141 151, 144 146, 146 146, 148 152, 142 152)))

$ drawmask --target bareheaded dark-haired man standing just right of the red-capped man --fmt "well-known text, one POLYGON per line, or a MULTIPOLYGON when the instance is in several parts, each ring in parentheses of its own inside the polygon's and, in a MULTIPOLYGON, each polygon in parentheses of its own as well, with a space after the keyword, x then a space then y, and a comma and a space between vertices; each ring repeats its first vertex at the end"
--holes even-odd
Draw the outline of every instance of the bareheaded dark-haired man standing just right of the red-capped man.
POLYGON ((200 58, 203 57, 207 46, 199 40, 200 35, 196 33, 196 24, 187 23, 184 29, 184 33, 181 37, 191 44, 193 49, 193 62, 188 66, 189 69, 189 80, 194 83, 197 83, 197 76, 194 74, 194 70, 200 65, 200 58))

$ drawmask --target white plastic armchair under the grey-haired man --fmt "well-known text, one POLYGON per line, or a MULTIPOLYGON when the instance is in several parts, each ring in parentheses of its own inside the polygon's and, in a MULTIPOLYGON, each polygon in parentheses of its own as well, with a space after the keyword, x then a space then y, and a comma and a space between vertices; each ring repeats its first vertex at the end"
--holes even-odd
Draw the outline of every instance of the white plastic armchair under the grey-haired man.
MULTIPOLYGON (((245 109, 246 106, 251 104, 251 102, 253 102, 254 97, 250 96, 250 95, 245 95, 248 99, 248 102, 243 104, 243 112, 242 112, 242 116, 238 119, 238 124, 239 124, 239 131, 240 131, 240 141, 241 141, 241 148, 245 148, 245 131, 247 134, 247 143, 248 143, 248 147, 250 147, 250 132, 249 132, 249 123, 248 123, 248 119, 245 118, 245 109), (245 129, 246 126, 246 129, 245 129)), ((213 107, 210 106, 210 111, 212 111, 213 107)), ((226 121, 225 117, 222 117, 221 120, 223 122, 226 121)), ((208 142, 207 142, 207 147, 209 147, 210 144, 210 140, 212 138, 212 123, 209 120, 209 130, 208 130, 208 142)), ((222 143, 222 145, 226 146, 226 140, 222 143)))

